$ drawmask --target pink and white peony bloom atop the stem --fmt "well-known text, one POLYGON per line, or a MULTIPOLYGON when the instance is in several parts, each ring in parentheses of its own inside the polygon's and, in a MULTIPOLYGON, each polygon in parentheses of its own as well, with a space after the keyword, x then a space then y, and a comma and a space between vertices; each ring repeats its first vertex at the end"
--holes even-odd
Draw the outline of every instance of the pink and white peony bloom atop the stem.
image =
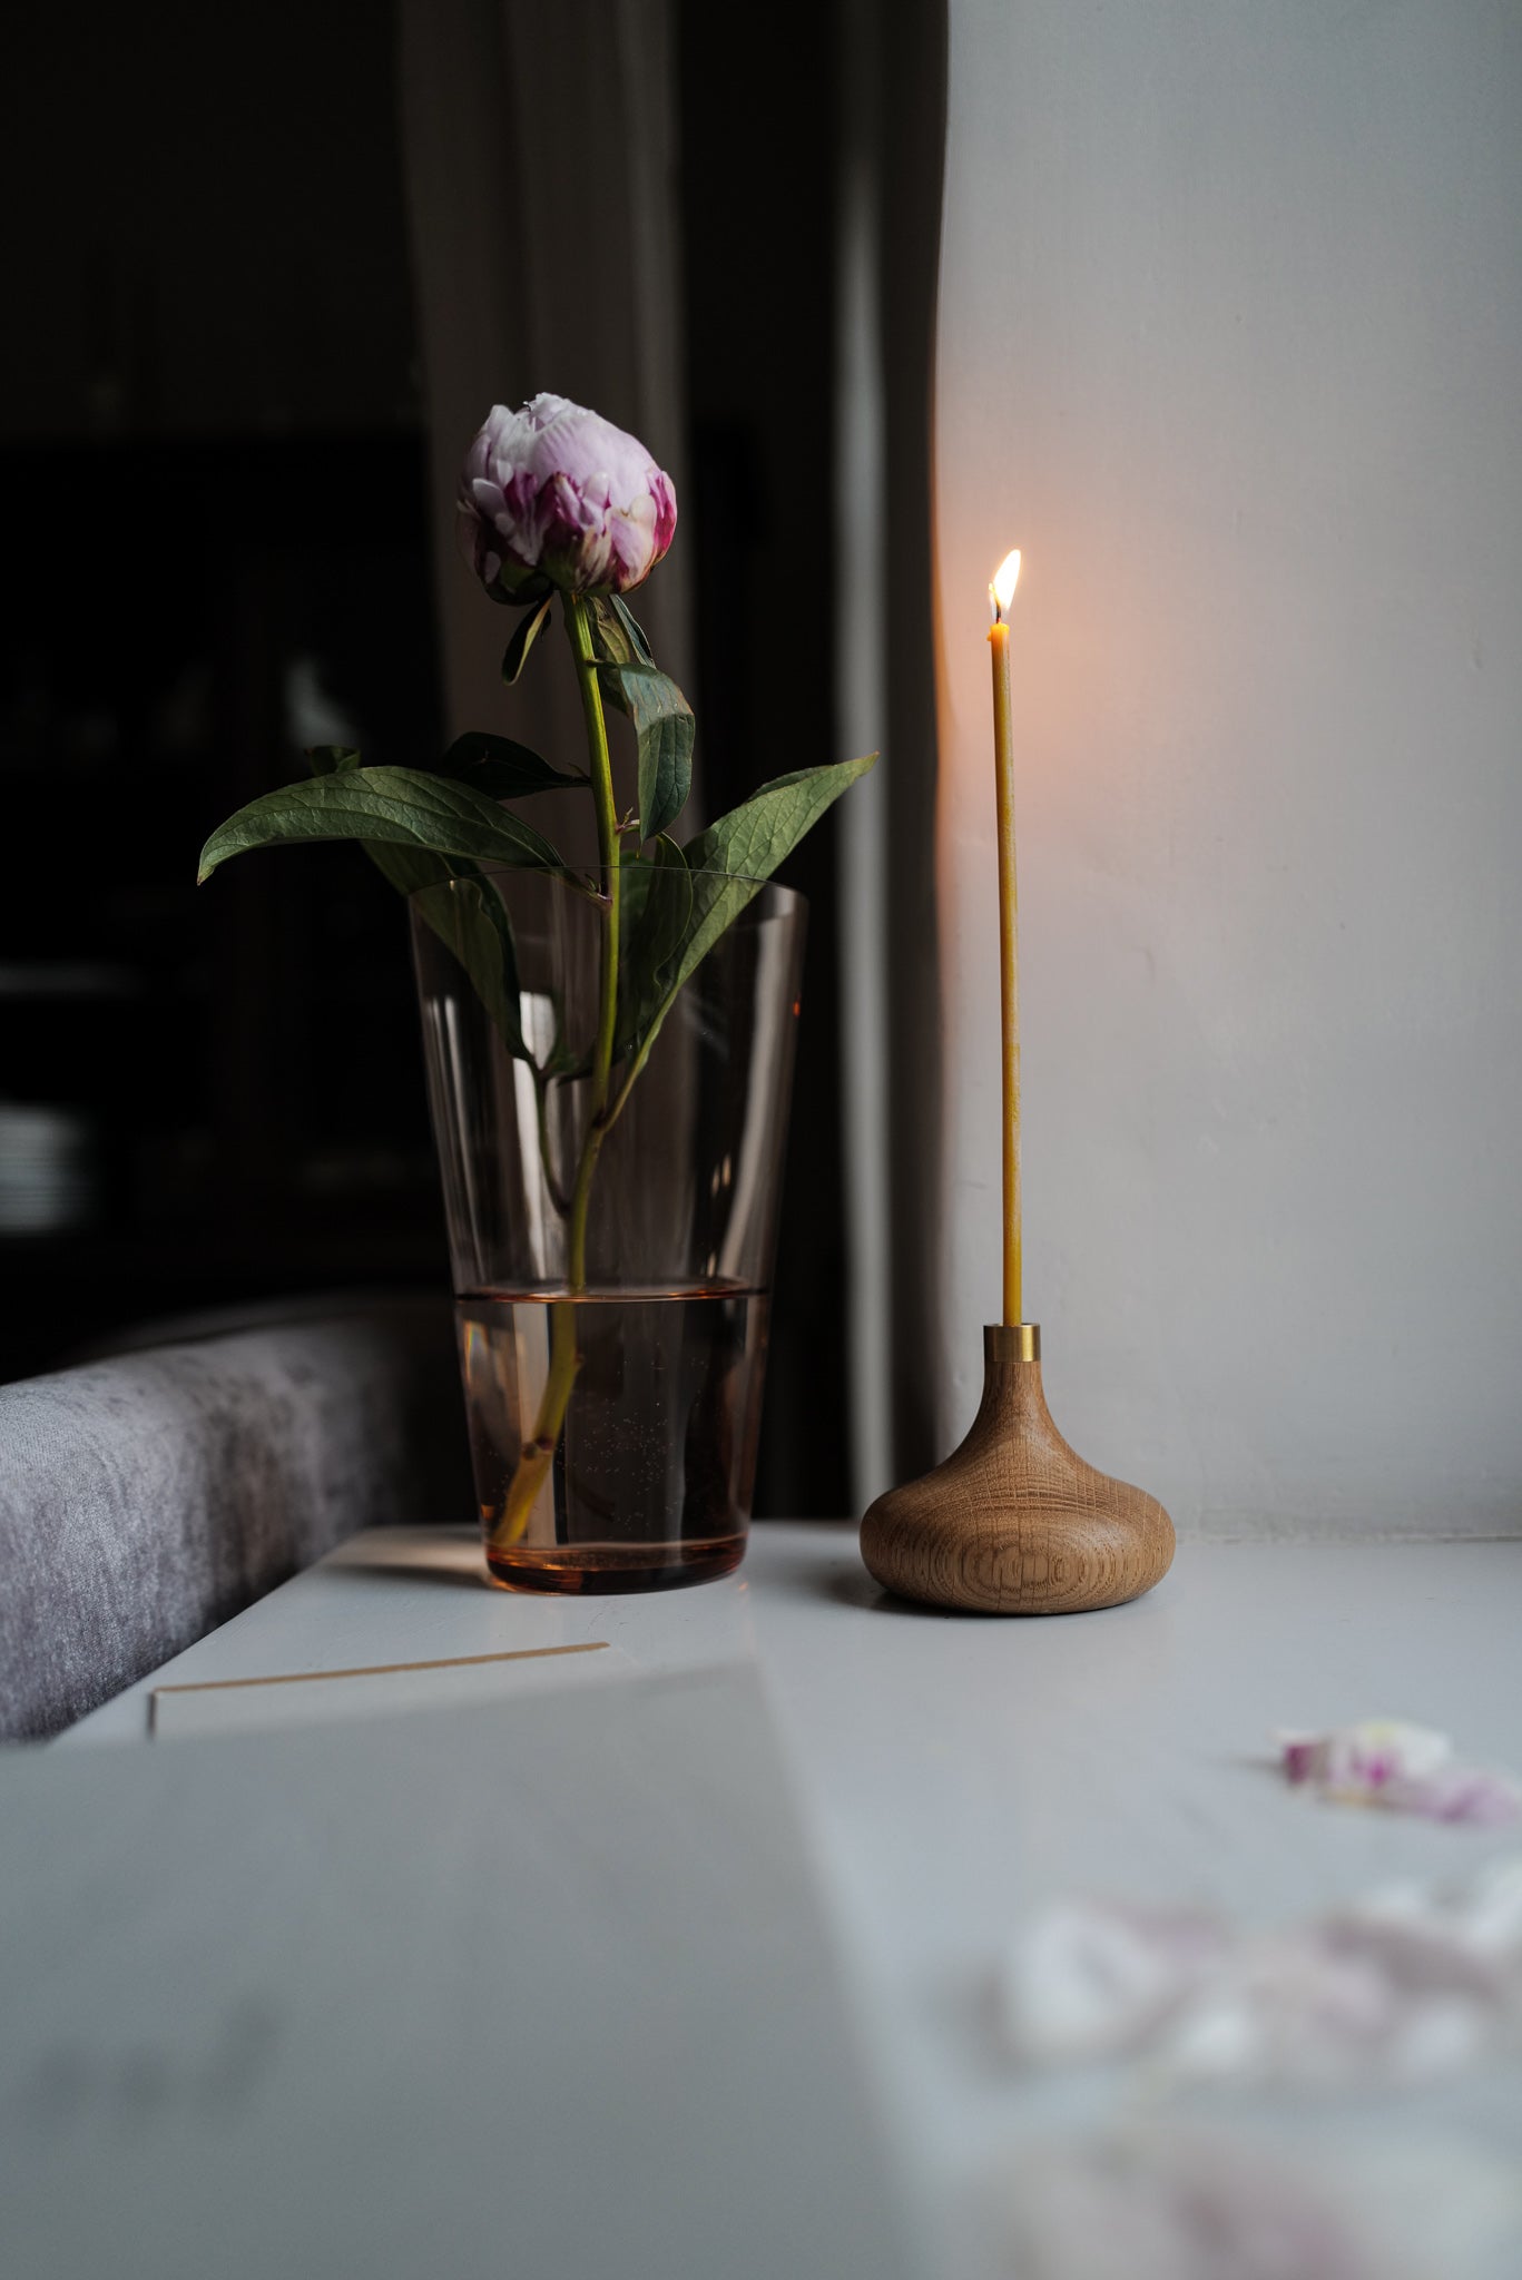
POLYGON ((671 545, 675 490, 634 435, 566 397, 493 406, 465 454, 461 554, 488 591, 628 593, 671 545))

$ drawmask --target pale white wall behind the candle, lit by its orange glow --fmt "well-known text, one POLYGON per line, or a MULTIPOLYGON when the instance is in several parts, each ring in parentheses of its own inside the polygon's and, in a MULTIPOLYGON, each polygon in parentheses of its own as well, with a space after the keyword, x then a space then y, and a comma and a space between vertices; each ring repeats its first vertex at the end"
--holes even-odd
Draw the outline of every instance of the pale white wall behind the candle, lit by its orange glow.
POLYGON ((952 0, 940 1420, 1027 1316, 1182 1528, 1522 1521, 1522 9, 952 0))

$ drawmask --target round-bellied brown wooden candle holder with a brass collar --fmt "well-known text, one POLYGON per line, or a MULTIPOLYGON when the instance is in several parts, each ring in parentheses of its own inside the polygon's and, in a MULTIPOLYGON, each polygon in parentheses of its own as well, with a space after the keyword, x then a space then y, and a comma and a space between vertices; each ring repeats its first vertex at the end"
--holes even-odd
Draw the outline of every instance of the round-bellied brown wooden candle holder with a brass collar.
POLYGON ((860 1550, 883 1589, 931 1607, 1077 1614, 1150 1591, 1173 1562, 1173 1521, 1068 1448, 1041 1391, 1041 1325, 990 1325, 968 1439, 879 1496, 860 1550))

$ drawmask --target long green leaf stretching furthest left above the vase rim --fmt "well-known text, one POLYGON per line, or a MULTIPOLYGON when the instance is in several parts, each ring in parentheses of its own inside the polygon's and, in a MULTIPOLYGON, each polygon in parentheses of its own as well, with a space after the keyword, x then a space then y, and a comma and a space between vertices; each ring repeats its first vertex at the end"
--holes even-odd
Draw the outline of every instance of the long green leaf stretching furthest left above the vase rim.
POLYGON ((228 816, 201 848, 199 880, 230 855, 294 839, 361 839, 570 876, 541 832, 468 784, 420 768, 338 766, 306 784, 267 791, 228 816))

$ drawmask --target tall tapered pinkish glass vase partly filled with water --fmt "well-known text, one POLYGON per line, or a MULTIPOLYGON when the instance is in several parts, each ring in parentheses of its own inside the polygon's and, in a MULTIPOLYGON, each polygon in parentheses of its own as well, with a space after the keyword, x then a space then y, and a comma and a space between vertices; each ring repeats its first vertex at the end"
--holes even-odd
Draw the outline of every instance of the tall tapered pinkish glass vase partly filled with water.
POLYGON ((602 1119, 605 905, 495 871, 411 907, 486 1564, 520 1591, 726 1575, 751 1521, 805 905, 755 889, 643 1065, 637 1035, 621 1047, 602 1119), (484 898, 507 990, 479 987, 484 898))

